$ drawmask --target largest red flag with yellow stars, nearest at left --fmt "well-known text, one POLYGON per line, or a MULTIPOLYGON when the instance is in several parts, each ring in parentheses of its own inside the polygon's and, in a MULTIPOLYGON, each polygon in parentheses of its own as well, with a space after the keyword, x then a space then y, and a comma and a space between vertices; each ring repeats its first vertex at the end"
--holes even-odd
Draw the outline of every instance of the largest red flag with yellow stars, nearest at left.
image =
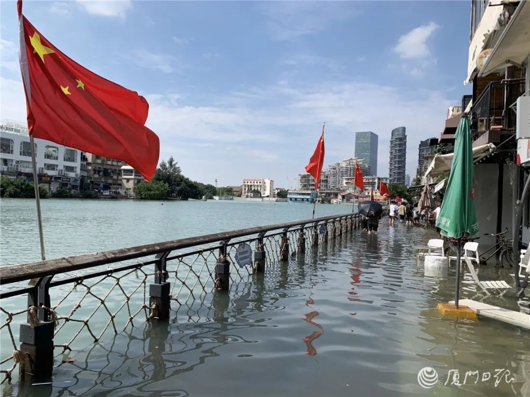
POLYGON ((151 179, 160 142, 144 125, 147 101, 68 58, 25 19, 21 0, 16 6, 30 134, 125 161, 151 179))

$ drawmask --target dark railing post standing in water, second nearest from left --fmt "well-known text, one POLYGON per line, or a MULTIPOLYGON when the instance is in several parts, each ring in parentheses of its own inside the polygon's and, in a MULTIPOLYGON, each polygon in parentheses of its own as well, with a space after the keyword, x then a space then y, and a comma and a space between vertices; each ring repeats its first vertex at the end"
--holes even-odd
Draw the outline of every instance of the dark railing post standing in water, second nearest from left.
POLYGON ((156 254, 155 281, 149 284, 149 308, 155 320, 169 320, 171 284, 167 282, 166 260, 171 251, 156 254))

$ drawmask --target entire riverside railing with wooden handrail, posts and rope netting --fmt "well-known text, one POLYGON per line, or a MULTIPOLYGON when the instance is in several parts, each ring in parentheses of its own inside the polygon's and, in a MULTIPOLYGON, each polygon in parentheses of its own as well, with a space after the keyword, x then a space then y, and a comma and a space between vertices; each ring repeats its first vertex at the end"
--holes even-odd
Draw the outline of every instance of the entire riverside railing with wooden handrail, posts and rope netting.
POLYGON ((4 266, 2 383, 17 369, 32 381, 49 379, 54 348, 63 354, 82 346, 80 335, 98 342, 107 332, 117 335, 135 324, 168 321, 171 302, 180 307, 204 300, 212 291, 226 292, 231 284, 247 282, 289 259, 305 260, 329 239, 357 227, 358 214, 352 213, 4 266), (254 245, 246 266, 234 263, 244 244, 254 245), (24 281, 30 284, 21 285, 24 281), (25 295, 28 304, 21 305, 25 295), (20 346, 14 337, 17 325, 20 346), (6 353, 6 345, 12 345, 12 354, 6 353))

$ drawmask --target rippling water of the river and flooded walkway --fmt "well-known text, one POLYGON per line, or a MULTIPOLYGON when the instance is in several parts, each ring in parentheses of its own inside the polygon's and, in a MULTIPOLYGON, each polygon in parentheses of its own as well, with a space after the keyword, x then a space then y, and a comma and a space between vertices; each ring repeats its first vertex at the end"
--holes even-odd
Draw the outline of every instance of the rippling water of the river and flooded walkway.
MULTIPOLYGON (((39 259, 34 202, 0 204, 2 264, 39 259)), ((317 216, 350 211, 317 206, 317 216)), ((306 219, 310 213, 311 205, 288 203, 43 201, 50 258, 306 219)), ((268 264, 265 274, 232 283, 229 293, 209 293, 181 306, 173 302, 169 325, 136 322, 96 344, 85 335, 62 356, 72 363, 61 364, 58 356, 52 385, 29 386, 24 393, 529 396, 528 330, 483 318, 443 318, 436 310, 454 297, 455 265, 447 275, 425 274, 416 246, 432 237, 432 231, 389 227, 385 220, 377 234, 354 230, 313 255, 268 264), (426 367, 438 376, 430 389, 418 381, 426 367)), ((509 274, 491 264, 481 267, 479 277, 513 284, 509 274)), ((484 298, 470 280, 465 274, 461 298, 514 310, 528 305, 513 290, 484 298)), ((5 332, 2 349, 11 349, 4 338, 5 332)), ((19 393, 16 381, 1 390, 19 393)))

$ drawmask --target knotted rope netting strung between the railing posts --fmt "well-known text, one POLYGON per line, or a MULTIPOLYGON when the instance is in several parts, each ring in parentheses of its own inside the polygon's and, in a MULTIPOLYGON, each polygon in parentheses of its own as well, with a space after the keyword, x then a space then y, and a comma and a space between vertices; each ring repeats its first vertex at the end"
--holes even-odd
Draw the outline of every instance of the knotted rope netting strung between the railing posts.
MULTIPOLYGON (((328 249, 323 245, 325 241, 352 229, 356 222, 354 218, 348 218, 317 227, 275 232, 262 236, 261 240, 259 236, 252 236, 246 240, 227 243, 225 247, 226 259, 230 263, 230 299, 237 299, 237 296, 246 293, 244 291, 253 283, 262 291, 285 283, 287 275, 296 274, 301 266, 314 260, 315 255, 328 249), (305 239, 305 249, 301 250, 302 239, 305 239), (266 252, 266 267, 261 279, 254 278, 253 266, 237 265, 234 258, 237 247, 242 242, 250 243, 253 250, 266 252), (288 253, 288 260, 281 260, 282 251, 288 253)), ((145 257, 145 261, 129 260, 113 263, 112 267, 91 268, 95 273, 65 274, 63 276, 70 277, 66 281, 73 281, 58 283, 60 285, 51 283, 50 307, 29 306, 15 310, 20 309, 21 301, 26 299, 25 294, 2 299, 0 382, 9 382, 19 374, 19 367, 24 363, 24 353, 19 349, 17 341, 19 327, 26 322, 31 327, 37 326, 40 322, 39 310, 45 311, 49 321, 54 323, 55 359, 59 363, 67 362, 70 351, 97 344, 104 337, 105 340, 110 340, 117 335, 131 333, 135 328, 147 332, 149 326, 146 328, 145 324, 151 323, 156 316, 156 305, 149 304, 149 284, 153 283, 155 276, 164 277, 171 283, 170 315, 175 318, 175 322, 177 313, 189 321, 199 320, 201 315, 215 316, 215 309, 205 309, 209 308, 209 303, 205 303, 205 300, 215 288, 215 268, 220 259, 219 248, 222 246, 223 243, 220 242, 202 249, 193 247, 195 251, 192 252, 172 252, 174 256, 167 258, 165 272, 156 272, 153 257, 150 256, 145 257)), ((86 368, 87 364, 80 366, 81 371, 86 368)))

